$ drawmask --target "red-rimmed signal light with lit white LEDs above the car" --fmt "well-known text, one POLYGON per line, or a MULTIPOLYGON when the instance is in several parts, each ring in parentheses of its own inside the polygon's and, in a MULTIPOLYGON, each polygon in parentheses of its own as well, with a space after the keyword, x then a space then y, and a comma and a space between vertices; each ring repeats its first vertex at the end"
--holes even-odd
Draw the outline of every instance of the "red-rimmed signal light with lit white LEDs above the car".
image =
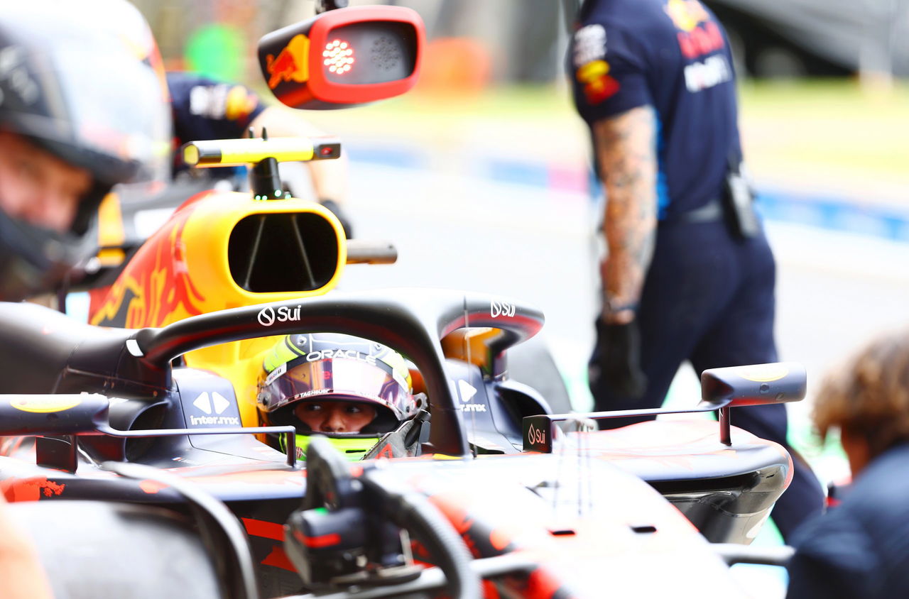
POLYGON ((413 87, 424 39, 423 20, 409 8, 339 8, 265 35, 259 65, 283 104, 342 108, 413 87))

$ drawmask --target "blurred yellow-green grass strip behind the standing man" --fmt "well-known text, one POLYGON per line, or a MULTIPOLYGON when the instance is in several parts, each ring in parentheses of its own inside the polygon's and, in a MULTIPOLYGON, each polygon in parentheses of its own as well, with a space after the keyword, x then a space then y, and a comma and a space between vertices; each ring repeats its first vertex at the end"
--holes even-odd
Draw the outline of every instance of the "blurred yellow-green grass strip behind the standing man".
MULTIPOLYGON (((740 85, 745 155, 755 175, 798 180, 849 176, 909 189, 909 81, 888 91, 851 79, 740 85)), ((379 135, 442 145, 475 143, 515 159, 549 152, 584 160, 586 130, 565 85, 439 93, 417 87, 398 98, 345 111, 308 112, 339 135, 379 135), (548 145, 549 147, 542 147, 548 145)))

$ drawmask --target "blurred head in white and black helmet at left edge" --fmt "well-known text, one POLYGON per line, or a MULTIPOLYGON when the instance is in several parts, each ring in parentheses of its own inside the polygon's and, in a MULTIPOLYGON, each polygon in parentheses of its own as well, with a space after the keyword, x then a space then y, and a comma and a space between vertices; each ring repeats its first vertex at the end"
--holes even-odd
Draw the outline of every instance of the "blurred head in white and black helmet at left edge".
POLYGON ((29 0, 0 16, 0 300, 53 289, 94 252, 110 188, 166 162, 165 89, 135 41, 98 25, 114 12, 145 25, 125 0, 29 0))

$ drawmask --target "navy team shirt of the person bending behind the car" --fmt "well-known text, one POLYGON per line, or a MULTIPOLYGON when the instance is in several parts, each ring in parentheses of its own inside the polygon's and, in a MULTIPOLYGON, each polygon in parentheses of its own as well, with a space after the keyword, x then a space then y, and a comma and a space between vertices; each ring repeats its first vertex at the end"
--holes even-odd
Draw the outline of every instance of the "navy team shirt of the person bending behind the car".
MULTIPOLYGON (((265 110, 259 96, 245 85, 180 71, 166 75, 174 116, 175 148, 192 141, 247 137, 249 124, 265 110)), ((261 133, 256 131, 255 135, 261 133)), ((185 165, 177 153, 175 171, 181 168, 185 165)), ((227 169, 215 170, 223 173, 227 169)))

